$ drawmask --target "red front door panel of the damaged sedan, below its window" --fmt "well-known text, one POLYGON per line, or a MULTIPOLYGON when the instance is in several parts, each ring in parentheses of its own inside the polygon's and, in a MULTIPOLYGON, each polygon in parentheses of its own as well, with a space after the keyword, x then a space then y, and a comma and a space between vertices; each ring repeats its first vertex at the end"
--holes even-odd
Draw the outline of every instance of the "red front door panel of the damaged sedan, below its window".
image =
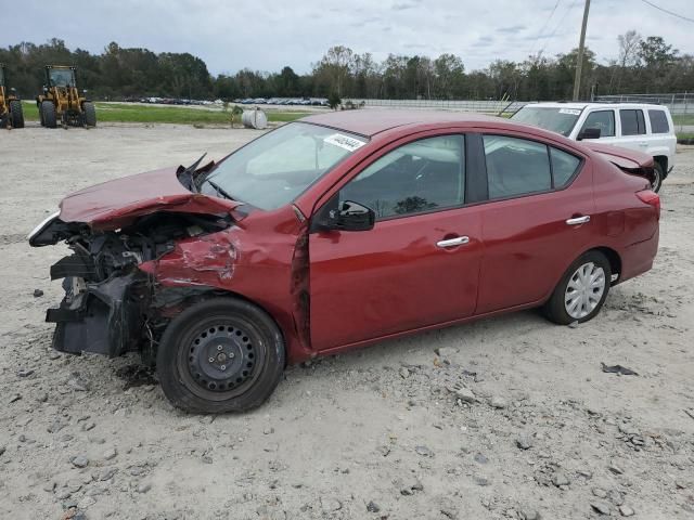
POLYGON ((311 234, 313 349, 473 314, 481 256, 477 208, 377 222, 371 231, 311 234), (467 245, 436 243, 468 236, 467 245))

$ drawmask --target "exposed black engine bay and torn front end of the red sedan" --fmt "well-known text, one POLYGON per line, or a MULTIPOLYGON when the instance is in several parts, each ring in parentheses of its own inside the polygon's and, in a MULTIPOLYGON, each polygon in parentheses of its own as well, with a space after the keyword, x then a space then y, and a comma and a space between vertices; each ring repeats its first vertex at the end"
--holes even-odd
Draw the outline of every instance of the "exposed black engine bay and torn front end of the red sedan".
POLYGON ((53 217, 29 236, 31 246, 65 242, 72 255, 51 266, 51 280, 63 280, 65 297, 47 311, 55 323, 53 348, 111 358, 141 351, 152 360, 166 324, 182 300, 209 287, 165 288, 138 266, 172 251, 178 240, 219 232, 230 217, 154 212, 114 231, 93 231, 86 223, 53 217))

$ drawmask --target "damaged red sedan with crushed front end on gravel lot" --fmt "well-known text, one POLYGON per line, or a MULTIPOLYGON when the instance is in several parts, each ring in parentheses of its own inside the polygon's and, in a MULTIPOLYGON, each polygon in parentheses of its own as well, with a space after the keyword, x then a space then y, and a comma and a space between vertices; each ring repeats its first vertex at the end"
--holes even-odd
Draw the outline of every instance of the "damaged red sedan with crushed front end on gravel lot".
POLYGON ((586 322, 651 269, 653 159, 507 120, 352 110, 67 196, 30 235, 53 348, 155 365, 167 398, 244 411, 287 363, 527 308, 586 322))

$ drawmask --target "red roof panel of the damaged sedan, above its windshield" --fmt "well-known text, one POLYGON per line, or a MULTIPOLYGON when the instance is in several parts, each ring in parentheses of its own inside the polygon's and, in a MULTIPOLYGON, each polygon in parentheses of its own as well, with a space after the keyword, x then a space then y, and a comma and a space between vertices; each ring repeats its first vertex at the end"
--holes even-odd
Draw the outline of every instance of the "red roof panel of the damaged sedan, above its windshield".
MULTIPOLYGON (((335 128, 346 132, 357 133, 371 138, 397 127, 429 126, 429 125, 465 125, 493 123, 498 126, 506 122, 501 117, 484 116, 481 114, 468 114, 462 112, 433 112, 433 110, 398 110, 389 108, 362 108, 356 110, 334 110, 329 114, 308 116, 301 119, 304 122, 335 128)), ((511 123, 513 125, 513 123, 511 123)))

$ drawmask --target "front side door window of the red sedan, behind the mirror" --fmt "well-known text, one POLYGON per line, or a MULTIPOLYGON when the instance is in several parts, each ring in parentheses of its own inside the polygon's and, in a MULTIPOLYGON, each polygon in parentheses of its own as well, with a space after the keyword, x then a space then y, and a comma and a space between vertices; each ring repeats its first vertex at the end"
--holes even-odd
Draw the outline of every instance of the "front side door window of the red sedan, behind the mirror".
POLYGON ((464 202, 463 135, 404 144, 368 166, 339 192, 339 202, 368 206, 376 220, 434 211, 464 202))

